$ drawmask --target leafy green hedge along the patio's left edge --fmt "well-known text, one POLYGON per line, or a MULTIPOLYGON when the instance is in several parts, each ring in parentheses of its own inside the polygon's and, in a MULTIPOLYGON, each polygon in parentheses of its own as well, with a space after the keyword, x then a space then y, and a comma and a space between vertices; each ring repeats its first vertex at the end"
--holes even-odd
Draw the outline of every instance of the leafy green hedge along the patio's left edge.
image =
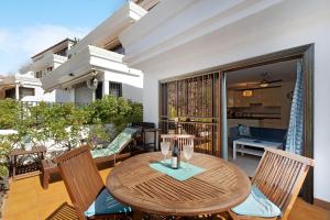
POLYGON ((16 135, 10 139, 0 136, 0 175, 6 174, 3 164, 13 144, 24 147, 26 136, 35 145, 52 139, 57 144, 68 148, 80 141, 78 133, 85 124, 95 124, 95 129, 87 140, 92 144, 94 139, 109 139, 102 124, 114 124, 117 135, 128 123, 142 121, 143 108, 141 103, 124 98, 106 96, 90 105, 46 103, 31 105, 12 99, 0 101, 0 130, 13 129, 16 135), (70 128, 68 131, 67 128, 70 128))

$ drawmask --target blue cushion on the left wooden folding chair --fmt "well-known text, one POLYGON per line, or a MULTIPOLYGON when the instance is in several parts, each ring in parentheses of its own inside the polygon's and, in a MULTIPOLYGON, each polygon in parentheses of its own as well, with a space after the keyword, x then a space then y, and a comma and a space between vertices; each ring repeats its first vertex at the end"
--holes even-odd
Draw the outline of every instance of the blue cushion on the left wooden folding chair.
POLYGON ((97 199, 85 211, 86 217, 111 215, 111 213, 129 213, 132 209, 117 201, 105 188, 97 197, 97 199))

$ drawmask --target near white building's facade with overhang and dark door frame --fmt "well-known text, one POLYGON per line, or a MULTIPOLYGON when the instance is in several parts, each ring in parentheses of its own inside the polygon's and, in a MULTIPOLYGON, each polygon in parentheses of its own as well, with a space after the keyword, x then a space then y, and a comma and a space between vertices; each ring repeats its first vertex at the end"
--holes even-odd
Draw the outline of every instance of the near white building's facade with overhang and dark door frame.
MULTIPOLYGON (((330 202, 329 9, 327 0, 161 1, 120 35, 124 62, 144 73, 144 120, 163 120, 158 111, 163 82, 185 78, 189 82, 189 77, 213 72, 222 77, 233 66, 296 55, 309 74, 305 89, 309 123, 304 132, 306 155, 316 160, 309 200, 330 202)), ((216 85, 221 87, 221 80, 216 85)))

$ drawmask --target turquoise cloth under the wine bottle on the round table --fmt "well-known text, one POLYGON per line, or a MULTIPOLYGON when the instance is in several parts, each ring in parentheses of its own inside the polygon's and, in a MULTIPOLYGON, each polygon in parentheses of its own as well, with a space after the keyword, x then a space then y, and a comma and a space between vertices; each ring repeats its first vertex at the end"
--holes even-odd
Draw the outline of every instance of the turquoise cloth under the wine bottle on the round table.
POLYGON ((204 168, 185 162, 180 162, 180 167, 178 169, 174 169, 170 167, 170 158, 151 163, 150 167, 180 182, 205 172, 204 168))

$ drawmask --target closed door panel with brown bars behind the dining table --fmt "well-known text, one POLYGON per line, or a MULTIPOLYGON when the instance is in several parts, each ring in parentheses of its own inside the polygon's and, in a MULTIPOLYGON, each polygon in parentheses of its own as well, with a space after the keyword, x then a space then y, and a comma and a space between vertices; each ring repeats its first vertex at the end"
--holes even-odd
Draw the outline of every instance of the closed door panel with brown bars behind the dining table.
POLYGON ((177 118, 197 152, 221 155, 219 73, 161 82, 160 114, 163 133, 175 132, 177 118))

